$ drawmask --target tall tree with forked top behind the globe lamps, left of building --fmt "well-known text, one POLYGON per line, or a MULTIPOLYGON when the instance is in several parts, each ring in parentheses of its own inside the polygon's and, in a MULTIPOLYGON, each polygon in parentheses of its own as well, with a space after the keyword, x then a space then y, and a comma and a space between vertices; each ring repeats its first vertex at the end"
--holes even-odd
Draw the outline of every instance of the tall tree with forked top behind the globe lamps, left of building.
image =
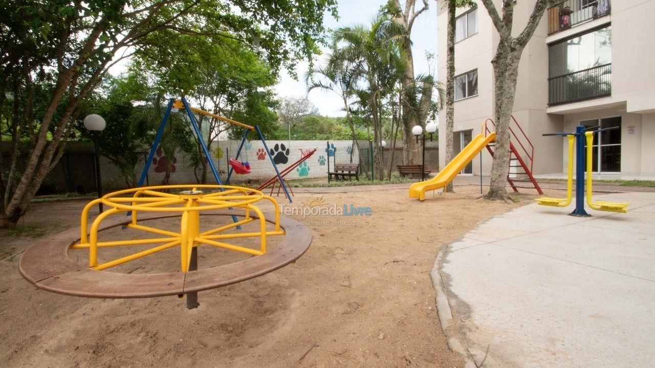
MULTIPOLYGON (((411 51, 411 29, 414 26, 414 21, 417 16, 421 15, 422 12, 428 10, 428 0, 422 0, 422 7, 419 10, 416 10, 416 0, 407 0, 405 1, 404 9, 400 5, 400 0, 389 0, 386 6, 386 9, 393 16, 394 22, 402 26, 402 37, 398 37, 398 45, 402 50, 401 56, 403 64, 405 64, 405 69, 402 78, 403 92, 407 86, 410 84, 415 84, 414 76, 414 57, 411 51)), ((432 92, 430 90, 430 92, 432 92)), ((432 96, 430 94, 430 96, 432 96)), ((409 100, 403 98, 402 101, 402 122, 403 122, 403 163, 408 164, 417 164, 419 163, 419 145, 414 139, 414 135, 411 132, 411 129, 416 125, 423 126, 425 120, 418 119, 415 114, 415 107, 409 104, 409 100)))

